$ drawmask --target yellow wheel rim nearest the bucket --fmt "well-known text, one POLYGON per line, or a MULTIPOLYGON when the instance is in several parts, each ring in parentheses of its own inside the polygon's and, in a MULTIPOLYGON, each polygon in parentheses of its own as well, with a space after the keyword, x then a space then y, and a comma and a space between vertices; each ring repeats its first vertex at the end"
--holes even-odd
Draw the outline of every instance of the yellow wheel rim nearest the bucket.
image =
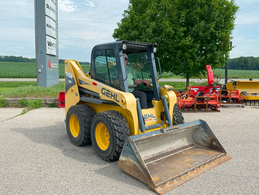
POLYGON ((107 127, 98 123, 95 127, 95 140, 101 150, 106 150, 110 143, 110 136, 107 127))

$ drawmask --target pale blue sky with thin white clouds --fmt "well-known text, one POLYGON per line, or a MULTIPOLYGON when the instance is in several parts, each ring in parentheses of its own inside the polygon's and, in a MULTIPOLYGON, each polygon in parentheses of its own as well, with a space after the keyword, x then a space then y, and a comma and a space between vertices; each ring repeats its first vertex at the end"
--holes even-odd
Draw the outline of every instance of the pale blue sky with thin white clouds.
MULTIPOLYGON (((94 45, 114 41, 111 35, 128 3, 128 0, 58 0, 59 58, 90 62, 94 45)), ((240 11, 233 30, 236 47, 230 51, 230 58, 258 57, 259 1, 236 0, 236 4, 240 11)), ((0 13, 0 55, 35 58, 34 1, 1 1, 0 13)))

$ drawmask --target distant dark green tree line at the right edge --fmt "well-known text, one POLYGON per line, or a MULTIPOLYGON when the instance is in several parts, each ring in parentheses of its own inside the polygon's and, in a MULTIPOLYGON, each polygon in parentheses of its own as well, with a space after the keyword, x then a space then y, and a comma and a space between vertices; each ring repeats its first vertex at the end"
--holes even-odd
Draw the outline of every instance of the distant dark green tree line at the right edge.
POLYGON ((227 69, 259 70, 259 57, 236 57, 227 60, 227 69))

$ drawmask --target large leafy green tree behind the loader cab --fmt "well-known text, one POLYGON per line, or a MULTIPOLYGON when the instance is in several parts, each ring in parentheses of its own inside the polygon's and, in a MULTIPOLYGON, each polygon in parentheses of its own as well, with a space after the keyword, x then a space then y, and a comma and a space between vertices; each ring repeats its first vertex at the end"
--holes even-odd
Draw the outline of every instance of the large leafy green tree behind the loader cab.
POLYGON ((158 44, 162 71, 186 77, 222 67, 239 7, 228 0, 130 0, 113 38, 158 44))

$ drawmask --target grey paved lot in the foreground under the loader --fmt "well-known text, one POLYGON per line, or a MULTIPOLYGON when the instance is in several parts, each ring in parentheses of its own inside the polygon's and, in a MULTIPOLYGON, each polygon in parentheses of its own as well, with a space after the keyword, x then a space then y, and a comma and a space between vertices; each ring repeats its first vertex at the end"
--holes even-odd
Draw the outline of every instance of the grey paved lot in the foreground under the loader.
MULTIPOLYGON (((232 159, 165 193, 259 194, 259 109, 184 113, 205 120, 232 159)), ((0 108, 0 121, 21 109, 0 108)), ((40 108, 0 122, 0 194, 154 194, 146 184, 104 162, 92 145, 68 139, 64 108, 40 108)))

